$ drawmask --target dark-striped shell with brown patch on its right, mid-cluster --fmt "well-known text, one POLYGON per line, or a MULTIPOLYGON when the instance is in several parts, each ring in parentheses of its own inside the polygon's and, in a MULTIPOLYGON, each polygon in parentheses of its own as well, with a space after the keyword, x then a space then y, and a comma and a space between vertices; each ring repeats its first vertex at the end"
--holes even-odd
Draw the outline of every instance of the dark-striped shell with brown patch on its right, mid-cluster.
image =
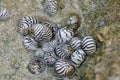
POLYGON ((70 58, 70 55, 72 54, 73 52, 73 48, 71 45, 69 44, 59 44, 57 47, 56 47, 56 55, 59 57, 59 58, 64 58, 64 59, 69 59, 70 58))

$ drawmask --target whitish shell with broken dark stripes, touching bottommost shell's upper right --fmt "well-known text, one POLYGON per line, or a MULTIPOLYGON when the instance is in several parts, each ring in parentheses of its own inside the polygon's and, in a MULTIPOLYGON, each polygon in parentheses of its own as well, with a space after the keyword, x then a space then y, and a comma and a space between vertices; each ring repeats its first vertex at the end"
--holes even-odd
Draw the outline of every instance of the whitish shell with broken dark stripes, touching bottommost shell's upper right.
POLYGON ((79 67, 85 58, 85 52, 82 49, 78 49, 72 53, 71 62, 75 67, 79 67))

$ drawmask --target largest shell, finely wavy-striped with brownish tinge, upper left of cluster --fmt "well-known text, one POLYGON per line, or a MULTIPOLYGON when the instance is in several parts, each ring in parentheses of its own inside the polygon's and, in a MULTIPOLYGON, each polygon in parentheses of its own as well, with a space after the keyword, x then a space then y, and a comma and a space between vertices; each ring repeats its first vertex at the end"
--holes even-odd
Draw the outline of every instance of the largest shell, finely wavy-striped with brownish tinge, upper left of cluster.
POLYGON ((30 30, 30 36, 34 37, 38 42, 50 41, 52 35, 52 31, 43 24, 35 24, 30 30))

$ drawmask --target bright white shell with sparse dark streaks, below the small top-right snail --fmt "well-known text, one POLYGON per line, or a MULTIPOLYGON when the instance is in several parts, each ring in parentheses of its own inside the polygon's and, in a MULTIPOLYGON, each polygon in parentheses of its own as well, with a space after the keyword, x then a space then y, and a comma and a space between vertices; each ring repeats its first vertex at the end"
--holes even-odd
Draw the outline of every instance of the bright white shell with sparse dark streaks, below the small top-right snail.
POLYGON ((55 38, 58 43, 67 43, 74 36, 73 30, 67 28, 61 28, 58 30, 55 38))

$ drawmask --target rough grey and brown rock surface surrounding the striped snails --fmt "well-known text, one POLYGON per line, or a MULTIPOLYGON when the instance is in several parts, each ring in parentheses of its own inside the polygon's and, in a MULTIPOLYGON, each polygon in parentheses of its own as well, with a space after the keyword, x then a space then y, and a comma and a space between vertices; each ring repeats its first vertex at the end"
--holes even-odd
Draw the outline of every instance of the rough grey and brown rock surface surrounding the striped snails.
POLYGON ((0 6, 10 11, 10 19, 0 21, 0 80, 60 80, 51 69, 40 75, 27 70, 33 54, 23 47, 17 24, 22 17, 35 15, 65 25, 72 12, 81 17, 79 37, 93 35, 98 48, 71 80, 120 80, 119 0, 63 0, 63 9, 52 17, 44 12, 42 5, 43 0, 0 0, 0 6), (98 27, 101 20, 105 25, 98 27), (19 68, 14 64, 19 64, 19 68))

